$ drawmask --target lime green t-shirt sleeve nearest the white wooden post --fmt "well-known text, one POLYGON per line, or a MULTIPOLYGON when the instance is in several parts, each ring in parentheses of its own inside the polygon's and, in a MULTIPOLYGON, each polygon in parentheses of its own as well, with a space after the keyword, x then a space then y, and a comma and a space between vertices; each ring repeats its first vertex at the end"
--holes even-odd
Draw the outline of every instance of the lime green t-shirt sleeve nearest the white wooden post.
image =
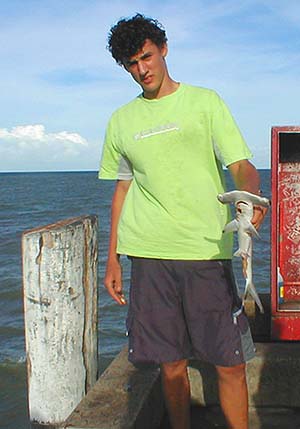
POLYGON ((113 180, 131 180, 133 177, 131 163, 119 148, 113 118, 106 129, 98 177, 113 180))

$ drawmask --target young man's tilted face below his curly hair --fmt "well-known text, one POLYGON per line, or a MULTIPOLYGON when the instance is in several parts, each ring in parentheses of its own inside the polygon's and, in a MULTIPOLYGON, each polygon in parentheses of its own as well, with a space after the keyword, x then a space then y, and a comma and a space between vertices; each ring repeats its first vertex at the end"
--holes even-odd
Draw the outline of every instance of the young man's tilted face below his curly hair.
POLYGON ((167 46, 159 48, 147 39, 142 49, 129 58, 124 64, 125 69, 143 88, 144 97, 155 98, 167 77, 165 56, 167 46))

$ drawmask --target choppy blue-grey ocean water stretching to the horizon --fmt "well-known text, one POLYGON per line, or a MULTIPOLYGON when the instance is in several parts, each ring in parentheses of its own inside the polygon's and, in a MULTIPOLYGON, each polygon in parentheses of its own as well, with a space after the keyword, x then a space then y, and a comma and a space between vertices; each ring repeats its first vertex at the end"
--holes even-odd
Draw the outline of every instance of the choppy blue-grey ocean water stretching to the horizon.
MULTIPOLYGON (((260 170, 270 198, 270 170, 260 170)), ((0 428, 27 429, 21 235, 37 226, 75 216, 99 218, 99 368, 102 372, 126 343, 126 307, 119 307, 103 287, 108 246, 110 200, 114 183, 96 172, 0 173, 0 428)), ((234 189, 228 179, 229 189, 234 189)), ((270 214, 254 244, 254 280, 261 292, 270 282, 270 214)), ((122 258, 125 294, 129 262, 122 258)), ((234 269, 243 286, 240 261, 234 269)))

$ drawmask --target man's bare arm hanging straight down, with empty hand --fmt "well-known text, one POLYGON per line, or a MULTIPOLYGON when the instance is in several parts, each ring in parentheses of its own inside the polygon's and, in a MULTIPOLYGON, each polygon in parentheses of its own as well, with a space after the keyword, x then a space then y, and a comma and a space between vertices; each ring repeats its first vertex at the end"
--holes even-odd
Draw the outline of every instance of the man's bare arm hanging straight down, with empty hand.
POLYGON ((122 267, 117 254, 117 229, 130 184, 131 180, 118 180, 115 187, 111 203, 110 239, 104 278, 104 286, 108 293, 120 305, 126 304, 126 300, 122 293, 122 267))

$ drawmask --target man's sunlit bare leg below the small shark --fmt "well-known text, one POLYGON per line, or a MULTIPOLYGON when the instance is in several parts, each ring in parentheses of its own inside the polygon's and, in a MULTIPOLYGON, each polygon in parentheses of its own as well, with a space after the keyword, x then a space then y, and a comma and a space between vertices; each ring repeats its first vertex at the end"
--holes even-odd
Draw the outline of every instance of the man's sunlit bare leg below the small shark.
POLYGON ((248 429, 248 389, 245 364, 217 366, 220 404, 228 429, 248 429))

